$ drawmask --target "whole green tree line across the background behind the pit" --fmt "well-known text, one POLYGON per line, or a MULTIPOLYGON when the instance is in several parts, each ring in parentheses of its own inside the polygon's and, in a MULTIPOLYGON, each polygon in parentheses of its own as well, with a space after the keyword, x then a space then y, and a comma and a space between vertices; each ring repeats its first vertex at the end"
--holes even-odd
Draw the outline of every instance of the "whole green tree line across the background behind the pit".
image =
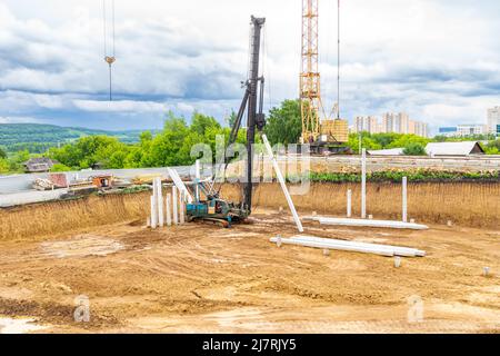
MULTIPOLYGON (((194 162, 191 148, 196 144, 207 144, 216 152, 216 138, 223 136, 226 141, 231 131, 236 115, 227 120, 227 126, 210 116, 194 112, 190 123, 183 117, 169 112, 163 129, 143 131, 138 142, 123 142, 118 137, 96 135, 81 137, 61 147, 50 147, 43 154, 31 154, 28 149, 6 152, 0 148, 0 174, 21 172, 22 164, 30 157, 49 157, 57 160, 54 171, 81 170, 89 168, 123 169, 168 166, 187 166, 194 162)), ((272 145, 297 144, 302 130, 299 100, 284 100, 269 112, 264 131, 272 145)), ((406 155, 424 155, 424 147, 430 141, 452 140, 446 137, 434 139, 416 135, 362 132, 349 136, 346 144, 354 154, 359 152, 359 141, 369 150, 403 148, 406 155)), ((454 138, 468 139, 471 138, 454 138)), ((246 130, 239 132, 237 142, 246 141, 246 130)), ((484 145, 487 154, 500 152, 500 140, 484 145)))

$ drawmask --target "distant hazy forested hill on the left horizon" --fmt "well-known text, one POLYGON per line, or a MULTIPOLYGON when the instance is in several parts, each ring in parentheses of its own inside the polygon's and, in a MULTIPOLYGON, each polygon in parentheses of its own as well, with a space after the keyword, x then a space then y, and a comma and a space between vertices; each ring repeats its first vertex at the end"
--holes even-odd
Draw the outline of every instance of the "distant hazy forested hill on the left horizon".
POLYGON ((122 142, 133 144, 139 141, 141 132, 142 130, 107 131, 54 125, 0 123, 0 147, 10 152, 28 149, 32 154, 40 154, 50 147, 68 144, 84 136, 106 135, 116 137, 122 142))

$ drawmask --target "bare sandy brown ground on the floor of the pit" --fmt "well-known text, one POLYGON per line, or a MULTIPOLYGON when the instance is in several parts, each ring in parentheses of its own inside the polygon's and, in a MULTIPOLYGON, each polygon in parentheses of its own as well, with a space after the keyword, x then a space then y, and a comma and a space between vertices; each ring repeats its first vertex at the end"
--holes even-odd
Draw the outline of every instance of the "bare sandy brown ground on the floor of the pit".
POLYGON ((380 256, 278 248, 269 238, 296 230, 276 211, 231 229, 142 225, 0 243, 0 333, 500 332, 500 231, 306 224, 309 235, 428 253, 394 268, 380 256), (89 323, 74 322, 79 296, 89 323))

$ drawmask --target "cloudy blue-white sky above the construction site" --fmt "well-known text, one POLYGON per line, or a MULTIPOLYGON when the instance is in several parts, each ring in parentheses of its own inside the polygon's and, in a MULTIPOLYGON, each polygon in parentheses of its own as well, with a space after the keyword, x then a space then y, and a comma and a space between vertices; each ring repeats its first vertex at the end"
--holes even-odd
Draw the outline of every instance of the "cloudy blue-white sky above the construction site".
MULTIPOLYGON (((320 11, 331 107, 337 1, 320 0, 320 11)), ((102 0, 2 0, 0 122, 147 129, 168 110, 223 121, 242 96, 252 13, 268 21, 267 108, 296 98, 301 0, 116 0, 109 102, 102 0)), ((343 0, 342 115, 407 111, 433 129, 486 122, 500 105, 499 18, 498 0, 343 0)))

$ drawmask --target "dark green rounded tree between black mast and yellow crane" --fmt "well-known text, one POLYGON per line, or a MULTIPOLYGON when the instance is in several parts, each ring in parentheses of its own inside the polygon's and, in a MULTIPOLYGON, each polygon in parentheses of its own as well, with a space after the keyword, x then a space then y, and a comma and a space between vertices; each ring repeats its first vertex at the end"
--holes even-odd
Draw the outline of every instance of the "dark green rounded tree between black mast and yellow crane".
POLYGON ((272 145, 297 144, 302 135, 300 100, 284 100, 269 112, 264 132, 272 145))

